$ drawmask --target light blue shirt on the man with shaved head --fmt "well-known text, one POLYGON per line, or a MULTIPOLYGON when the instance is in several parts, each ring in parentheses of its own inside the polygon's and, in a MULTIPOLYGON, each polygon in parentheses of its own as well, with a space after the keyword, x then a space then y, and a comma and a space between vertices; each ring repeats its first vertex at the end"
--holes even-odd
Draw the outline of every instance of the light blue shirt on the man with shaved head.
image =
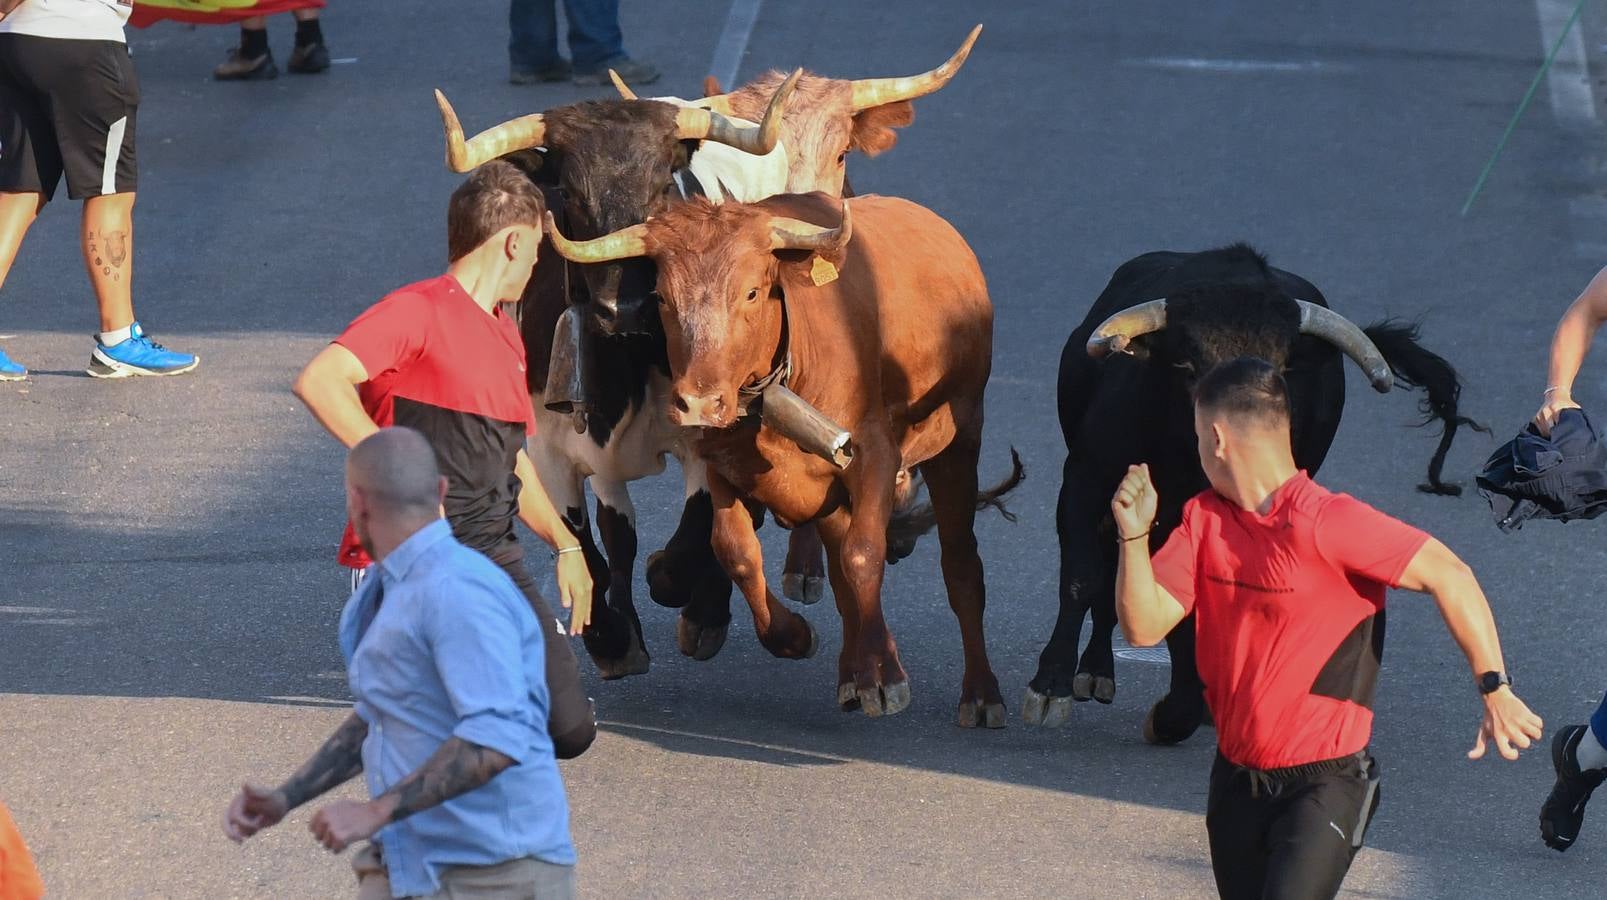
POLYGON ((519 857, 574 865, 569 804, 546 734, 545 644, 513 580, 431 522, 391 551, 341 612, 363 775, 378 797, 447 738, 514 760, 487 784, 382 828, 391 889, 434 894, 447 866, 519 857))

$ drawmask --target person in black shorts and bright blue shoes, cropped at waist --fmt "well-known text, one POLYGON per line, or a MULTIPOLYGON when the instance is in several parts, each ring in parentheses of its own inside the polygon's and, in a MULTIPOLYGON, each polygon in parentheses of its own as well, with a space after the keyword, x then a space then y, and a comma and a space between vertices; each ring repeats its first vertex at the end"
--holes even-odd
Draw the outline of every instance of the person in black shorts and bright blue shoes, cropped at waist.
MULTIPOLYGON (((95 378, 182 374, 199 358, 133 318, 133 121, 140 82, 124 40, 130 0, 0 0, 0 286, 22 238, 67 177, 84 201, 84 265, 100 304, 95 378)), ((0 350, 0 381, 27 366, 0 350)))

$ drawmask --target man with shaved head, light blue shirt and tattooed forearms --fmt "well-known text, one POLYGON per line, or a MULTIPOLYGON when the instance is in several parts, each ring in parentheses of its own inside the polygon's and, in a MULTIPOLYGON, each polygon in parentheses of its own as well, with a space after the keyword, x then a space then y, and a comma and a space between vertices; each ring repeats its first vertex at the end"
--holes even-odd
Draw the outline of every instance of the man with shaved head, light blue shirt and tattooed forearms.
POLYGON ((447 482, 421 434, 370 436, 346 479, 352 526, 376 559, 341 614, 355 710, 283 786, 246 784, 225 832, 244 841, 362 771, 373 799, 328 804, 310 828, 336 853, 373 841, 352 863, 363 897, 574 897, 535 614, 495 562, 452 537, 447 482))

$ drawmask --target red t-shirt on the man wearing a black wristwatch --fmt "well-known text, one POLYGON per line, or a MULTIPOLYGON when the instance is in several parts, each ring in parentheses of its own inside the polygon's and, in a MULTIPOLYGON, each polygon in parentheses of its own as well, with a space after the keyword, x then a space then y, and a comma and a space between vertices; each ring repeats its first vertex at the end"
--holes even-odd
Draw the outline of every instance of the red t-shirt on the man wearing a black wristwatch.
POLYGON ((1155 580, 1196 612, 1196 665, 1228 762, 1286 768, 1368 746, 1384 593, 1427 542, 1305 472, 1265 516, 1215 490, 1183 506, 1155 580))

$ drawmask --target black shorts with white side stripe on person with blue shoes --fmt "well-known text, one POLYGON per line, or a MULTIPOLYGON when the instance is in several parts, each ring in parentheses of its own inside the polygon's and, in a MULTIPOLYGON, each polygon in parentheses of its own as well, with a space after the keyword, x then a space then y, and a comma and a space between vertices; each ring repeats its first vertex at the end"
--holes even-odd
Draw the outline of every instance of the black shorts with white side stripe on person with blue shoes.
POLYGON ((132 191, 138 106, 129 45, 0 34, 0 193, 132 191))

